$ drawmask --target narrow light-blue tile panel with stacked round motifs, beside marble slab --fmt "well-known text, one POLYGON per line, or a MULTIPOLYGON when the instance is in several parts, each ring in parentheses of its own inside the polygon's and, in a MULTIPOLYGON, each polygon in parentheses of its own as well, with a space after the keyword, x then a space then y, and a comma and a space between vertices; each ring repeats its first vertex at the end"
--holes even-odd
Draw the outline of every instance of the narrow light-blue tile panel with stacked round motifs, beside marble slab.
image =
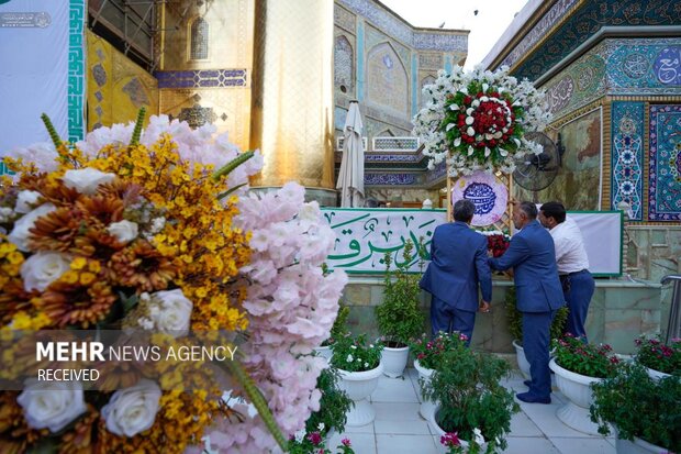
POLYGON ((619 202, 632 207, 632 221, 643 221, 644 102, 614 101, 612 104, 611 208, 619 202))

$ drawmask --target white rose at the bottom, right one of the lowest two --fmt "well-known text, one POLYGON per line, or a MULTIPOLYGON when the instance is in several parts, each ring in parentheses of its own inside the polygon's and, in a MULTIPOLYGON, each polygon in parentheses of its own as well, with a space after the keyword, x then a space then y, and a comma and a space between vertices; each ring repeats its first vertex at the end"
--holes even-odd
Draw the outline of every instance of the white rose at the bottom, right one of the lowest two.
POLYGON ((160 400, 160 388, 152 380, 115 391, 102 408, 107 429, 116 435, 135 436, 154 425, 160 400))

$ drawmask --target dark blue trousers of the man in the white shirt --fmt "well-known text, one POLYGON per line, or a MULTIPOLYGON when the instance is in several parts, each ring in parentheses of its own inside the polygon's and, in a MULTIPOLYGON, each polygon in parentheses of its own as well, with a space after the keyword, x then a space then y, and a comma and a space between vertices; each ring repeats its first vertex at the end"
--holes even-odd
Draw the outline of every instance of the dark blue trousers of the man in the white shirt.
POLYGON ((593 291, 595 290, 593 277, 589 270, 584 269, 573 275, 561 276, 560 283, 562 284, 562 294, 566 297, 568 309, 570 310, 565 331, 577 337, 582 337, 587 342, 584 322, 587 321, 591 297, 593 297, 593 291))

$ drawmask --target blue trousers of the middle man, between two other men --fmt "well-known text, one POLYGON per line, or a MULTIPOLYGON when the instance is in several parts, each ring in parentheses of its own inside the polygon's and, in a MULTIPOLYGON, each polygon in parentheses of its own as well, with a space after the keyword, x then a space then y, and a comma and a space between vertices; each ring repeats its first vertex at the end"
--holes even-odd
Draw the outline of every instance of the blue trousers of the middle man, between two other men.
POLYGON ((529 363, 532 376, 529 394, 546 398, 551 395, 551 375, 548 368, 549 330, 556 315, 550 312, 522 312, 523 348, 529 363))

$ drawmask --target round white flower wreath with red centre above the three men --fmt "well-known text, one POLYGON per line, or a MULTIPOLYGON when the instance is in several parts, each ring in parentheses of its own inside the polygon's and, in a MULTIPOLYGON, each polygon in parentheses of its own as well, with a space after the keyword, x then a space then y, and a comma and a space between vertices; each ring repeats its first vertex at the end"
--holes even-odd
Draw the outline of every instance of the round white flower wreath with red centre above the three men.
POLYGON ((550 121, 544 93, 507 73, 506 67, 466 73, 456 66, 423 88, 429 102, 414 118, 414 134, 424 143, 429 169, 447 158, 453 177, 477 170, 511 174, 515 159, 542 153, 524 135, 550 121))

